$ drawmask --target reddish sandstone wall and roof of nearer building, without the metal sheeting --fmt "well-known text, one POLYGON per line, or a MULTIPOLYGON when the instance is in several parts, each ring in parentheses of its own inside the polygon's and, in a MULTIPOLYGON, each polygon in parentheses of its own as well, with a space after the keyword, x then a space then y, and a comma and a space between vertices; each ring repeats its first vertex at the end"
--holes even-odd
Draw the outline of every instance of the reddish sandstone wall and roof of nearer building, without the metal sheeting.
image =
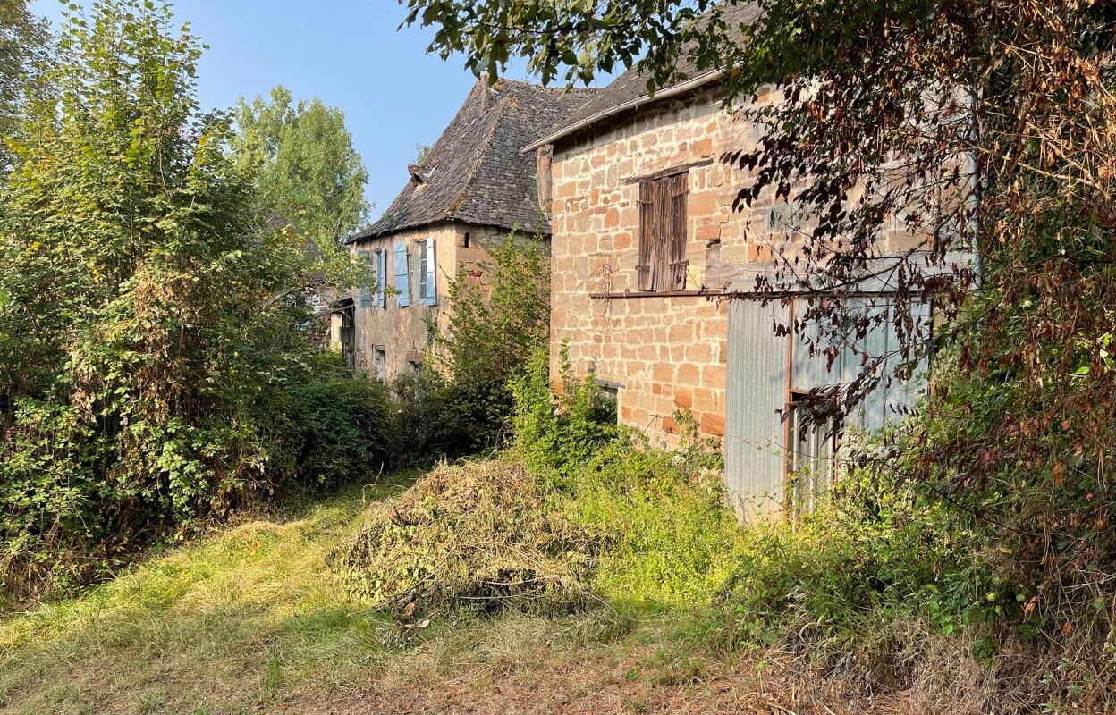
POLYGON ((575 369, 616 392, 623 423, 668 442, 680 408, 724 435, 729 306, 706 274, 766 250, 731 210, 743 177, 718 160, 750 128, 724 110, 715 71, 681 62, 682 84, 652 98, 628 70, 529 146, 552 148, 552 347, 568 342, 575 369))

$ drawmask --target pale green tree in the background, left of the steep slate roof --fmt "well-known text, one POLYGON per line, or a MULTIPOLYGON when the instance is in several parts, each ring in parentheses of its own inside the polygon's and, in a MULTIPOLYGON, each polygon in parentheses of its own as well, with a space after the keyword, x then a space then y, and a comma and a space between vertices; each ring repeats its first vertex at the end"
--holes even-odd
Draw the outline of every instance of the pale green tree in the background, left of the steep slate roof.
POLYGON ((270 102, 241 99, 235 119, 230 146, 238 165, 256 177, 261 225, 302 236, 324 261, 319 268, 344 265, 340 239, 359 229, 369 210, 368 172, 345 115, 318 99, 295 103, 276 87, 270 102))

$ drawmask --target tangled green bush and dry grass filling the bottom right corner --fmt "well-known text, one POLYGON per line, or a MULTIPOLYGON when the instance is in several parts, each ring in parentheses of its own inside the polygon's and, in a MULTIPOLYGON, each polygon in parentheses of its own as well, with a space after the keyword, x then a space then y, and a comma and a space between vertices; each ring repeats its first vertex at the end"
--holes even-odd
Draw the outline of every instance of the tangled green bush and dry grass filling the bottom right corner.
POLYGON ((863 446, 862 466, 812 513, 741 531, 715 641, 789 649, 810 664, 806 677, 917 693, 924 712, 1109 712, 1112 595, 1036 579, 970 494, 894 471, 905 433, 863 446))

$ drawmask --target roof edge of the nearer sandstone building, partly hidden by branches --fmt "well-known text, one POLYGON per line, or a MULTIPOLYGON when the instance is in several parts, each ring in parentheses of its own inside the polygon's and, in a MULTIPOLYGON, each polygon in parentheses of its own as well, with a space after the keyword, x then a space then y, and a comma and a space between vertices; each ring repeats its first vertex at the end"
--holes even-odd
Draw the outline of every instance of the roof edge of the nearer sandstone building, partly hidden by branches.
MULTIPOLYGON (((760 8, 754 2, 740 2, 725 7, 721 12, 721 19, 728 26, 730 37, 739 33, 740 26, 751 25, 759 16, 760 8)), ((593 99, 581 105, 577 112, 570 115, 568 120, 556 127, 554 132, 526 145, 525 152, 543 144, 554 144, 575 132, 624 112, 638 109, 647 103, 673 97, 719 79, 723 70, 720 68, 699 69, 691 57, 691 49, 693 49, 693 42, 683 45, 675 60, 675 69, 681 79, 668 87, 660 87, 654 97, 647 93, 647 75, 641 73, 637 67, 633 67, 613 80, 593 99)))

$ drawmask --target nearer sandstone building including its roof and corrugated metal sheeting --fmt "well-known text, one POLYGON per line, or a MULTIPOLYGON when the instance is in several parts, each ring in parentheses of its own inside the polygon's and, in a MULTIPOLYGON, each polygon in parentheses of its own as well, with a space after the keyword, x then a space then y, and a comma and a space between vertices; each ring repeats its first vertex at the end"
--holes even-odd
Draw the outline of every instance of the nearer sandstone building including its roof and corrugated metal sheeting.
MULTIPOLYGON (((733 7, 725 20, 754 12, 733 7)), ((677 439, 674 415, 689 410, 701 434, 722 441, 741 512, 770 511, 793 496, 790 474, 831 468, 834 438, 802 438, 792 407, 810 388, 852 377, 855 360, 841 356, 826 369, 796 349, 793 335, 777 338, 772 322, 789 325, 795 305, 729 300, 772 269, 788 205, 772 192, 732 211, 749 177, 719 157, 754 147, 759 131, 724 109, 719 73, 686 59, 679 69, 686 78, 654 97, 645 77, 627 71, 525 148, 552 153, 551 371, 566 345, 574 369, 615 395, 622 423, 666 443, 677 439)), ((887 300, 879 289, 866 309, 886 310, 887 300)), ((883 346, 893 336, 868 339, 883 346)), ((883 425, 917 388, 877 390, 855 422, 883 425)))

